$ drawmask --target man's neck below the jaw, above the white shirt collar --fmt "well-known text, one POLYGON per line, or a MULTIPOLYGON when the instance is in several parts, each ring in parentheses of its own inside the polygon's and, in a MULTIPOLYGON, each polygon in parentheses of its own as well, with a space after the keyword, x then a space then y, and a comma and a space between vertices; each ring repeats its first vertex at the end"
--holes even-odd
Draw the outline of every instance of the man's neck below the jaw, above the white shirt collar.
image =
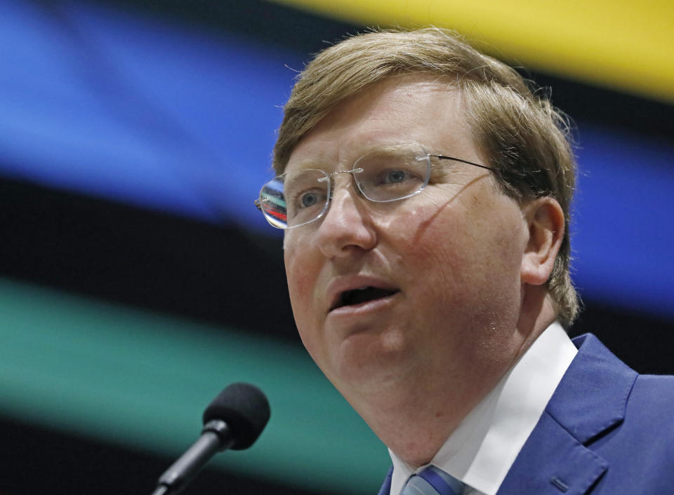
POLYGON ((343 395, 400 459, 413 468, 430 463, 465 416, 555 320, 546 294, 533 308, 527 302, 514 331, 501 343, 508 349, 507 358, 494 361, 478 355, 463 369, 444 369, 435 376, 425 369, 421 377, 410 374, 343 395))

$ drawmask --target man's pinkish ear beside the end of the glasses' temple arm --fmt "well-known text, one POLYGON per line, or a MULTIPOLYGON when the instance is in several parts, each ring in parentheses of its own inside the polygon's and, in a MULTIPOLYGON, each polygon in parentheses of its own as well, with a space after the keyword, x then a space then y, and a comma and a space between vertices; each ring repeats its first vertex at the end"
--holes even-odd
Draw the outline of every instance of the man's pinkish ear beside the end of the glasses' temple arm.
POLYGON ((522 213, 529 226, 529 240, 522 257, 520 280, 543 285, 550 278, 564 239, 564 212, 560 203, 545 196, 524 206, 522 213))

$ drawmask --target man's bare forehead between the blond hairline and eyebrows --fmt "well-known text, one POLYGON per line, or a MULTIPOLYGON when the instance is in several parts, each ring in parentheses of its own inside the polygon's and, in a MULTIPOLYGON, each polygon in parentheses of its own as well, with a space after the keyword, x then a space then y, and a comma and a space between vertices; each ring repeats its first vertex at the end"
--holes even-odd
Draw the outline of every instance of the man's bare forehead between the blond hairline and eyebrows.
POLYGON ((406 74, 338 103, 293 149, 286 170, 338 168, 370 149, 401 142, 467 160, 480 158, 460 90, 437 77, 406 74))

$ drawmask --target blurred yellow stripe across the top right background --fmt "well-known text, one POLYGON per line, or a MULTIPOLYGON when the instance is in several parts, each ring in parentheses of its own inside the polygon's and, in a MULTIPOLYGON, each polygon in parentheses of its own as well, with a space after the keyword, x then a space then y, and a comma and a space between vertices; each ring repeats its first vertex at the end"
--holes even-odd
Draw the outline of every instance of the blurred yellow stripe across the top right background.
POLYGON ((436 25, 530 69, 674 102, 674 0, 272 0, 360 25, 436 25))

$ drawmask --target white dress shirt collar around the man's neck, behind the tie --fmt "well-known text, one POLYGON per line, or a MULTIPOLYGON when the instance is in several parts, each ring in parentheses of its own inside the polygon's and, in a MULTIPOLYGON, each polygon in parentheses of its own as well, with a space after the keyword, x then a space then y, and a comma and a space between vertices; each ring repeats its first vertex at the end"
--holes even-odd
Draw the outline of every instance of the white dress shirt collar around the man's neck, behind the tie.
MULTIPOLYGON (((555 322, 531 344, 449 435, 430 462, 467 485, 465 495, 496 495, 538 419, 560 384, 576 346, 555 322)), ((411 468, 389 449, 391 495, 399 495, 411 468)))

